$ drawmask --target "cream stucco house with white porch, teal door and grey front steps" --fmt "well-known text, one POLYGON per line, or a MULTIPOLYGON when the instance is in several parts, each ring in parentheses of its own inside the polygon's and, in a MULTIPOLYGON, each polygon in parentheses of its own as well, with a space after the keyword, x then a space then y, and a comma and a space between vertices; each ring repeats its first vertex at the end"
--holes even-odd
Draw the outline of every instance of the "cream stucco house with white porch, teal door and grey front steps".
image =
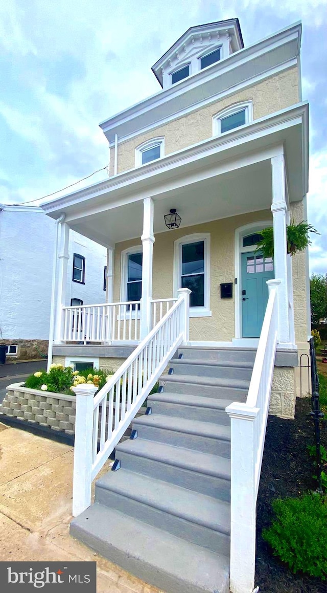
POLYGON ((152 68, 162 90, 100 124, 110 178, 43 205, 61 228, 53 361, 117 371, 95 398, 76 388, 72 533, 174 593, 252 591, 268 408, 294 417, 310 335, 307 253, 286 246, 307 218, 300 38, 300 23, 248 47, 238 19, 191 27, 152 68), (93 308, 66 306, 70 229, 108 248, 93 308))

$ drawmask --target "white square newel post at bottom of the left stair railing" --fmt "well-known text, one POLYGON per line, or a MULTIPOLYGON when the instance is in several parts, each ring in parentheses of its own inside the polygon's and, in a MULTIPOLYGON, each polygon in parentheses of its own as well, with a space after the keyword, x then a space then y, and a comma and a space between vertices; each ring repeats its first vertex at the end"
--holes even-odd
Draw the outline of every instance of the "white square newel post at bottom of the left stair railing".
POLYGON ((77 385, 75 446, 73 467, 73 517, 77 517, 91 505, 92 449, 95 385, 77 385))

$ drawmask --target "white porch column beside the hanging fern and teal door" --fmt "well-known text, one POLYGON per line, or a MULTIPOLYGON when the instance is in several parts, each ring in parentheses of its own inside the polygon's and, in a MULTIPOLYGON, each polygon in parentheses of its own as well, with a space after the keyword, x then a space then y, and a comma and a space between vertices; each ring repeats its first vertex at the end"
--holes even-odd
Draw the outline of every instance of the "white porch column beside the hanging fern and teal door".
POLYGON ((287 275, 287 241, 286 220, 287 203, 285 187, 285 165, 283 154, 271 159, 271 173, 273 177, 273 212, 274 226, 274 269, 275 278, 281 280, 278 287, 278 343, 289 345, 290 315, 288 312, 288 275, 287 275))

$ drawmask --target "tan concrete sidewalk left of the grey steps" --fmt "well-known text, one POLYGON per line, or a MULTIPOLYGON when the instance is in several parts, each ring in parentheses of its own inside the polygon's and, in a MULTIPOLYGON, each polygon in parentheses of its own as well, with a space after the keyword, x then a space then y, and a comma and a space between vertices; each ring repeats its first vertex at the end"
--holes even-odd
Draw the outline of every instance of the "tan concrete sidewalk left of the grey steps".
POLYGON ((96 560, 97 593, 160 593, 70 537, 72 447, 0 423, 0 459, 1 561, 96 560))

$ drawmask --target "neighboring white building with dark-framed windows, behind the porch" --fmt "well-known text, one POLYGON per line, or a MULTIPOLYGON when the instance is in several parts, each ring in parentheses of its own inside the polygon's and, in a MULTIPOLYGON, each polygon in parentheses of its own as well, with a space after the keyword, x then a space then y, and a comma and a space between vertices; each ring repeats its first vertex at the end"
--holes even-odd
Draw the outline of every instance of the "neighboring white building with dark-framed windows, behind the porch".
MULTIPOLYGON (((55 233, 41 208, 0 205, 0 344, 12 358, 47 352, 55 233)), ((104 301, 106 263, 105 247, 71 232, 66 305, 104 301)))

